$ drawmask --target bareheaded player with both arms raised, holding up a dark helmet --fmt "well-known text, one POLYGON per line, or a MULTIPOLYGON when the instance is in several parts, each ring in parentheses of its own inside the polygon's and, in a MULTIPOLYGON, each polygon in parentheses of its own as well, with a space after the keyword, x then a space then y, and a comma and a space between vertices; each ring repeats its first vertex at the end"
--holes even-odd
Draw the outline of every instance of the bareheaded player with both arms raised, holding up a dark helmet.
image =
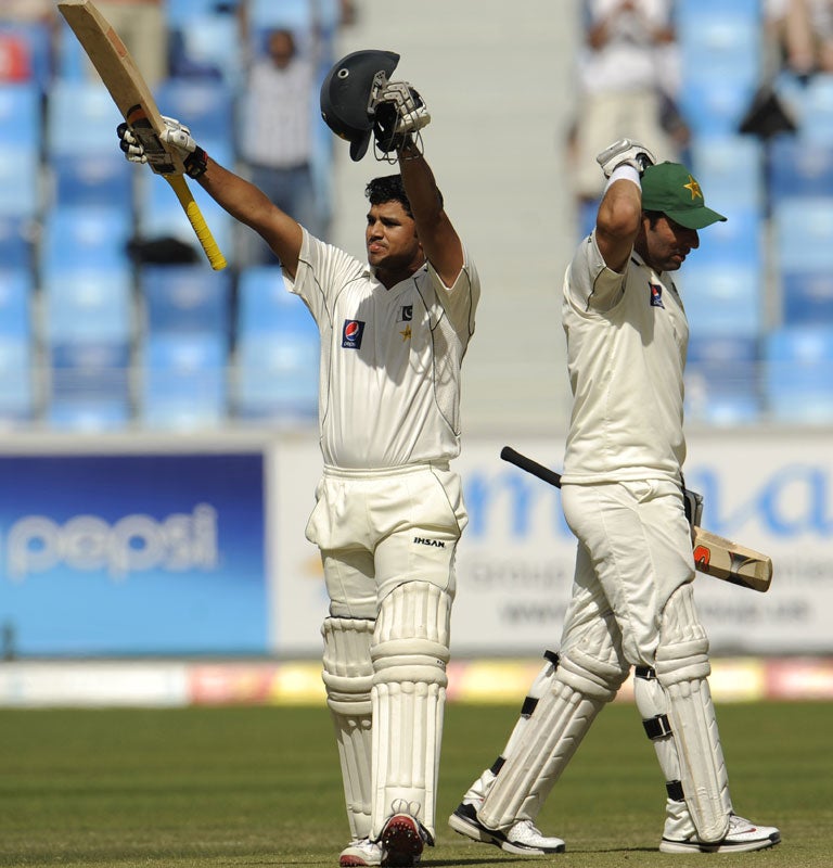
MULTIPOLYGON (((355 52, 321 92, 354 159, 372 133, 374 150, 398 161, 399 175, 366 190, 367 263, 310 235, 179 122, 165 133, 202 187, 269 244, 321 336, 324 469, 307 537, 330 597, 323 680, 353 838, 341 866, 411 866, 434 843, 454 553, 467 521, 449 462, 480 288, 422 154, 425 104, 387 81, 397 61, 355 52)), ((128 158, 142 162, 136 136, 119 129, 128 158)))

